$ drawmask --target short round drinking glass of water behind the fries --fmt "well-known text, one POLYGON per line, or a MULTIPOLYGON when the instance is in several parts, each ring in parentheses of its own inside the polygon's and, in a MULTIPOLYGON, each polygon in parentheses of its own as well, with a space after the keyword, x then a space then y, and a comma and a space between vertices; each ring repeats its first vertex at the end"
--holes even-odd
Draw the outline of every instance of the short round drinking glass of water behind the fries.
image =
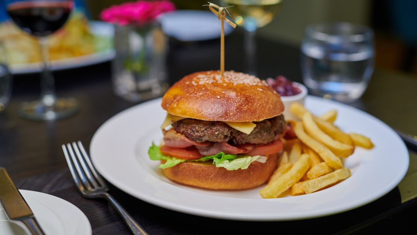
POLYGON ((301 44, 301 70, 311 94, 354 102, 374 71, 374 33, 352 23, 322 23, 306 27, 301 44))

